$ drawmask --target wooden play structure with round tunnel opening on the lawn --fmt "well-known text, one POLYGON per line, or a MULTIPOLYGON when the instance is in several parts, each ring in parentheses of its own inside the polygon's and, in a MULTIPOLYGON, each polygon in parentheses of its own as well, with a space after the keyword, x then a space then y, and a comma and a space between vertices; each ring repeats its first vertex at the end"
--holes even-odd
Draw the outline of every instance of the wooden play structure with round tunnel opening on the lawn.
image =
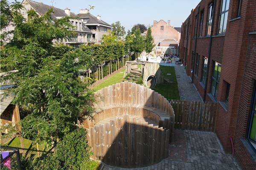
POLYGON ((164 81, 158 62, 127 61, 125 66, 125 76, 127 74, 143 76, 143 85, 149 88, 152 88, 157 84, 163 84, 164 81))

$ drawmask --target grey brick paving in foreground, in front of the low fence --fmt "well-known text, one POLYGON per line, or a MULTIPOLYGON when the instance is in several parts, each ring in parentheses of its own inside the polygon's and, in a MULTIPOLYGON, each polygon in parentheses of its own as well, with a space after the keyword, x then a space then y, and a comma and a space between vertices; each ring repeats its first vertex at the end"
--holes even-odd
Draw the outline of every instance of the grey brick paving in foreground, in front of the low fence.
POLYGON ((212 132, 175 130, 174 145, 169 145, 169 158, 142 168, 119 168, 102 164, 102 170, 240 170, 230 154, 225 154, 212 132), (183 142, 181 142, 183 141, 183 142), (185 142, 184 142, 185 141, 185 142), (181 145, 179 144, 181 143, 181 145), (174 148, 177 149, 174 151, 174 148), (181 150, 181 151, 179 151, 181 150))

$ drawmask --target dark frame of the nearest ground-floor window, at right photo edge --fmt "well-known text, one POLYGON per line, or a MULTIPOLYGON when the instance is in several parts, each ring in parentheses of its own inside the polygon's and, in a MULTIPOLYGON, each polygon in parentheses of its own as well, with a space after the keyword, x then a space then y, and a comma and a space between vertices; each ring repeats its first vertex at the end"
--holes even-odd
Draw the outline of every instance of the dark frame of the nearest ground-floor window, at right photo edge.
POLYGON ((250 131, 253 125, 254 114, 256 114, 256 80, 254 80, 253 96, 252 96, 251 105, 250 105, 249 121, 248 121, 248 127, 247 127, 247 135, 246 135, 246 139, 249 141, 250 145, 252 146, 252 148, 254 148, 254 151, 256 152, 256 147, 254 147, 252 144, 254 143, 256 145, 256 141, 253 141, 252 139, 250 139, 250 131))

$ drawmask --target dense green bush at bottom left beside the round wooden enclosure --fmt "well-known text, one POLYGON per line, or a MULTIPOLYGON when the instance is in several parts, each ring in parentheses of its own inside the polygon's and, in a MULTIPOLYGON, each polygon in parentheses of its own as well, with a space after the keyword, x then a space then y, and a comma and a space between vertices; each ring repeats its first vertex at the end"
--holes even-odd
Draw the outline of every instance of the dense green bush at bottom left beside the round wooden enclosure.
POLYGON ((79 128, 64 136, 55 152, 39 161, 34 170, 79 170, 82 162, 89 161, 90 155, 86 131, 79 128))

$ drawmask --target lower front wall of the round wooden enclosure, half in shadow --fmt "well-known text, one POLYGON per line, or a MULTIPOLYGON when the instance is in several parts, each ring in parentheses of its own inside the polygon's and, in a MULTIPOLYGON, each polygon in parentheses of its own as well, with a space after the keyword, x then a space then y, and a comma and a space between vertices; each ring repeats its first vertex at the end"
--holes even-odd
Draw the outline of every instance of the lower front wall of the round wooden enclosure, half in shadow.
POLYGON ((145 167, 168 157, 170 130, 129 115, 87 129, 93 159, 123 167, 145 167))

